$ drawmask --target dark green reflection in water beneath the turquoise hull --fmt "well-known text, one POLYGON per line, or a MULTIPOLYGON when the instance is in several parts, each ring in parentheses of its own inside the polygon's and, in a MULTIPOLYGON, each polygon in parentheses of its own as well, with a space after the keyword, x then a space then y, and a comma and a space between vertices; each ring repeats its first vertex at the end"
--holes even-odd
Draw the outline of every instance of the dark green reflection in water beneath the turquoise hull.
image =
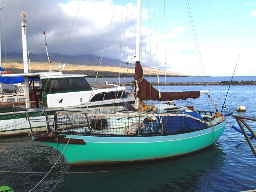
MULTIPOLYGON (((221 170, 225 153, 211 146, 188 156, 161 161, 70 167, 61 191, 194 191, 221 170), (83 173, 86 172, 86 173, 83 173), (207 175, 207 176, 206 176, 207 175)), ((204 190, 205 186, 203 186, 204 190)), ((214 186, 209 186, 209 190, 214 186)))

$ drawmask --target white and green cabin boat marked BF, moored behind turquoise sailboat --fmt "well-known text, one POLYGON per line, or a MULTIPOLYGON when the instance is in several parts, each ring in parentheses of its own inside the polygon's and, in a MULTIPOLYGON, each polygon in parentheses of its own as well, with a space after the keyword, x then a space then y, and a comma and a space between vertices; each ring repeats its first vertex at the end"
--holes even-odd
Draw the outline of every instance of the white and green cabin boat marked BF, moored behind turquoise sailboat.
MULTIPOLYGON (((0 136, 28 134, 32 131, 46 131, 43 122, 45 114, 26 108, 47 108, 64 110, 65 108, 88 108, 93 106, 113 106, 119 102, 134 103, 133 95, 127 94, 124 86, 108 84, 94 84, 90 86, 84 74, 63 74, 61 68, 52 71, 50 56, 45 49, 49 60, 50 70, 47 72, 29 72, 28 51, 26 37, 25 12, 21 13, 22 43, 24 73, 0 73, 0 81, 13 84, 14 93, 2 90, 0 96, 0 136), (26 116, 40 120, 29 122, 26 116)), ((45 39, 46 33, 44 32, 45 39)), ((46 41, 46 40, 45 40, 46 41)), ((1 84, 0 84, 1 85, 1 84)))

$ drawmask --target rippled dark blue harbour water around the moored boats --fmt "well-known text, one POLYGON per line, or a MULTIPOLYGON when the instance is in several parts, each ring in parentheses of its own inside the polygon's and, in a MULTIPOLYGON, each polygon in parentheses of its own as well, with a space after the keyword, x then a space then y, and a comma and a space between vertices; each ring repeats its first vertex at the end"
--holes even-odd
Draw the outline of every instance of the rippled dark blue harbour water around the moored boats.
MULTIPOLYGON (((191 82, 194 78, 185 77, 180 81, 191 82)), ((231 79, 231 77, 215 79, 218 82, 230 81, 230 79, 226 80, 228 78, 231 79)), ((109 80, 108 82, 111 82, 109 80)), ((255 76, 241 77, 236 81, 242 80, 255 81, 255 76)), ((235 110, 238 105, 244 105, 246 112, 234 112, 234 114, 255 117, 256 86, 230 86, 227 94, 228 87, 209 87, 210 96, 219 111, 226 98, 227 109, 223 109, 223 114, 235 110)), ((160 88, 165 90, 163 86, 160 88)), ((204 89, 204 86, 167 87, 167 91, 204 89)), ((195 110, 214 110, 211 102, 206 98, 205 95, 201 95, 198 99, 179 100, 175 103, 194 106, 195 110)), ((47 175, 33 191, 237 192, 256 189, 256 158, 243 134, 231 127, 235 125, 239 128, 235 119, 231 116, 226 118, 228 121, 226 129, 216 142, 216 146, 182 157, 124 165, 70 167, 64 157, 58 160, 60 153, 56 150, 32 141, 27 135, 1 138, 0 146, 5 146, 6 149, 0 153, 0 171, 10 172, 0 172, 0 186, 11 186, 15 192, 30 191, 58 160, 51 172, 65 174, 47 175)), ((248 122, 248 124, 256 132, 256 123, 248 122)), ((251 138, 251 141, 256 146, 256 140, 251 138)))

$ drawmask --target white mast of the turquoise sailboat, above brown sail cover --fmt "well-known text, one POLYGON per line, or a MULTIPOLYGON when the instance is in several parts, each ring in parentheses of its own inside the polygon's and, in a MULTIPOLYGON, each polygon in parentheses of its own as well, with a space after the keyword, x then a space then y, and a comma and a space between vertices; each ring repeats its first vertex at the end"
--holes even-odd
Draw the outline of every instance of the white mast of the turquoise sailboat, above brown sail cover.
MULTIPOLYGON (((136 20, 136 48, 135 48, 135 59, 136 62, 140 62, 140 20, 141 20, 141 0, 137 0, 137 20, 136 20)), ((138 82, 137 82, 137 75, 135 72, 136 78, 136 92, 139 91, 138 82)), ((141 79, 139 79, 141 81, 141 79)), ((138 109, 139 107, 139 98, 136 96, 135 99, 135 108, 138 109)))

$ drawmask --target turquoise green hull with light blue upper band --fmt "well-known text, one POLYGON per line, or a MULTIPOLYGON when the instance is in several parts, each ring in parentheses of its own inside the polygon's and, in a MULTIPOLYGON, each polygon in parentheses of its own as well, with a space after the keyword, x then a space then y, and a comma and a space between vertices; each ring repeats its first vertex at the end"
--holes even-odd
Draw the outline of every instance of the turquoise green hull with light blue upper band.
POLYGON ((170 158, 204 149, 215 143, 225 125, 226 120, 207 129, 166 136, 65 135, 63 143, 43 143, 63 152, 71 166, 130 163, 170 158), (80 144, 70 144, 73 141, 80 144))

